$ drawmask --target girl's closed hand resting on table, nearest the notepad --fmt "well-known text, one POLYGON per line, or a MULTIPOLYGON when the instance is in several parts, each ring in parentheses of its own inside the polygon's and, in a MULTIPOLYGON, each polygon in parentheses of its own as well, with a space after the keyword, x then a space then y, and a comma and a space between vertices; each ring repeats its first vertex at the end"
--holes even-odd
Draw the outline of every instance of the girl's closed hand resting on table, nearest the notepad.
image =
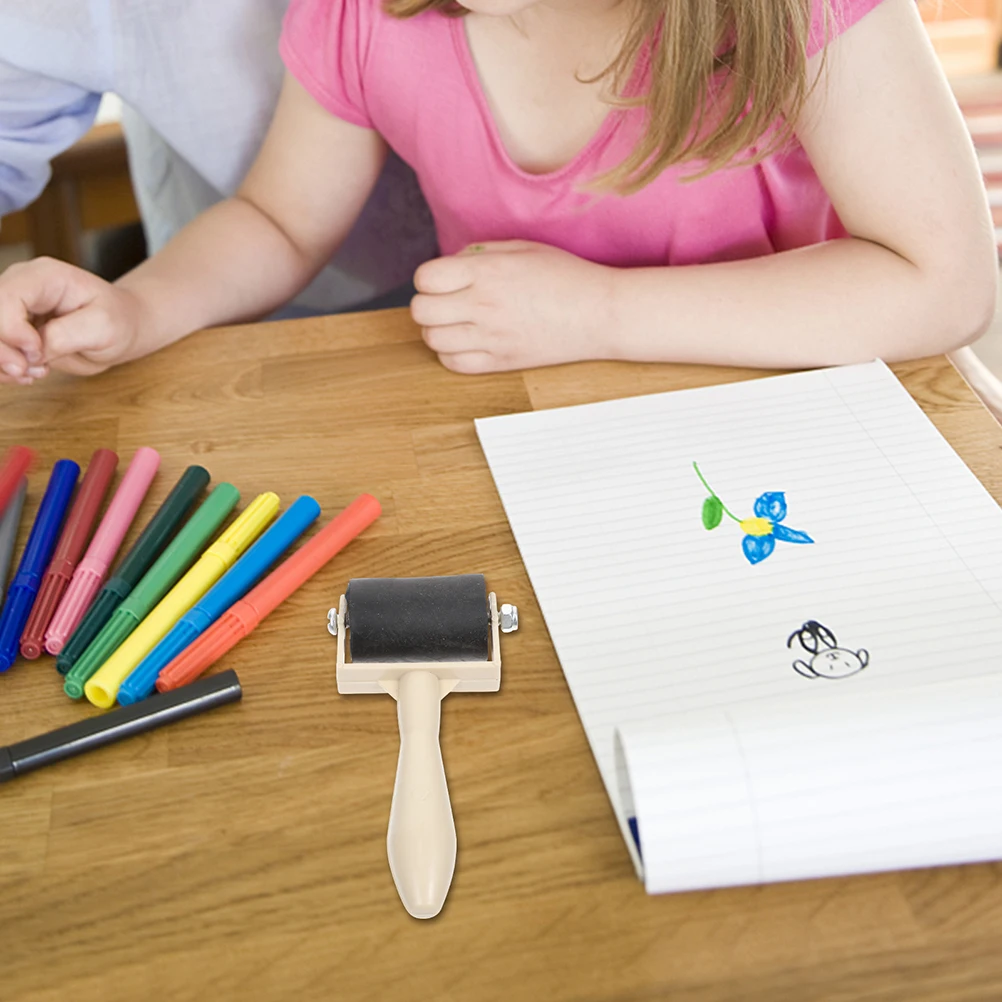
POLYGON ((477 243, 418 269, 411 314, 453 372, 609 358, 615 275, 542 243, 477 243))

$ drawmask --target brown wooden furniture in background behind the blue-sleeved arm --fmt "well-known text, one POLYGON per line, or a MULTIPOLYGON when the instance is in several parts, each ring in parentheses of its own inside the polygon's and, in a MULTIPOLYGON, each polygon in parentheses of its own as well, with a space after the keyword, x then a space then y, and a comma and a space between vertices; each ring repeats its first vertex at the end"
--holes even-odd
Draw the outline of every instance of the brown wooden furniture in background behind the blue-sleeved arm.
POLYGON ((107 122, 52 161, 52 180, 38 199, 3 220, 0 244, 28 243, 32 255, 82 266, 85 232, 138 219, 125 139, 107 122))

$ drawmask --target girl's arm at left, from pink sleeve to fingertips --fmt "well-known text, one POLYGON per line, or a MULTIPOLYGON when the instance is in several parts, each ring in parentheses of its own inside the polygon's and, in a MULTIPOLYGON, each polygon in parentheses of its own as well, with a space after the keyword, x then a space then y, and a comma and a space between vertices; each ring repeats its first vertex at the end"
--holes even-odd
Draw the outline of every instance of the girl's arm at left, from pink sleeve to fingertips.
POLYGON ((113 286, 44 259, 8 270, 0 277, 0 342, 14 351, 34 346, 37 355, 40 334, 33 375, 47 366, 89 374, 192 331, 268 314, 330 260, 385 158, 376 132, 333 117, 289 77, 235 197, 113 286), (32 317, 48 315, 36 331, 32 317))

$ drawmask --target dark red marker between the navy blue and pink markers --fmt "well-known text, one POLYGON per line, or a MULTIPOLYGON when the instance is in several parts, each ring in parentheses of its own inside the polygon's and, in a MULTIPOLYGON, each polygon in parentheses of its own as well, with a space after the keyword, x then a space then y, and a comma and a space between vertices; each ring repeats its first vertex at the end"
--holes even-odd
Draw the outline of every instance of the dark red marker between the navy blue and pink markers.
POLYGON ((84 546, 87 545, 90 530, 97 521, 97 513, 108 487, 111 486, 111 478, 115 475, 117 465, 118 457, 110 449, 98 449, 90 457, 87 473, 80 484, 76 501, 70 509, 55 553, 52 554, 52 560, 42 578, 31 615, 21 634, 21 653, 29 659, 38 657, 42 652, 42 638, 48 629, 49 620, 73 576, 84 546))

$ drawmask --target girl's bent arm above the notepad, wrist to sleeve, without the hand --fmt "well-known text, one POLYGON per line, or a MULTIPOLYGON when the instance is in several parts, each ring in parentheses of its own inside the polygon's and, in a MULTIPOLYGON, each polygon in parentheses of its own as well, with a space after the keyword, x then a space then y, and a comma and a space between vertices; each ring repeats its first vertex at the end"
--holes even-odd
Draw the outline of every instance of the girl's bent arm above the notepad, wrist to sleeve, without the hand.
POLYGON ((619 273, 619 357, 892 361, 984 333, 998 281, 994 229, 970 136, 913 0, 885 0, 831 45, 797 134, 851 238, 619 273))

